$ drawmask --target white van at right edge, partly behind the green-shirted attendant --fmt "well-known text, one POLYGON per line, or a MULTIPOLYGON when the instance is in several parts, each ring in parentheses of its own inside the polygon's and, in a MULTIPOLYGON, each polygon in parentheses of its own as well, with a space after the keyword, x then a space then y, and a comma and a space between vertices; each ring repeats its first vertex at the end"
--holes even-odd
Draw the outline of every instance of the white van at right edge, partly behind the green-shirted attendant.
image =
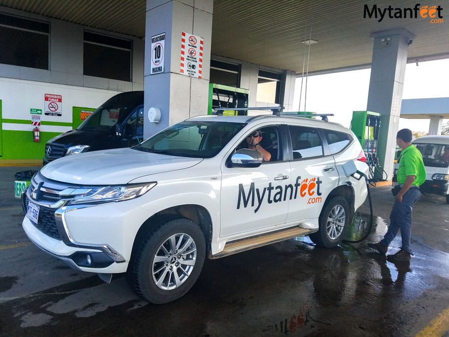
MULTIPOLYGON (((421 152, 426 166, 426 182, 420 186, 421 192, 445 196, 449 204, 449 136, 419 137, 412 144, 421 152)), ((398 165, 395 164, 394 175, 398 165)))

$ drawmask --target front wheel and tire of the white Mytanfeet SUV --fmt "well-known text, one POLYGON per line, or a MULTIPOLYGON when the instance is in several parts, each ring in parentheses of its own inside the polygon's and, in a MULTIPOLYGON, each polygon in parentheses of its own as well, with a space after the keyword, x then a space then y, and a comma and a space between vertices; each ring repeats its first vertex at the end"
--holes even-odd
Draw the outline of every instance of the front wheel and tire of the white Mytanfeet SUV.
POLYGON ((206 244, 196 223, 169 218, 140 240, 128 282, 148 302, 163 304, 186 294, 203 269, 206 244))

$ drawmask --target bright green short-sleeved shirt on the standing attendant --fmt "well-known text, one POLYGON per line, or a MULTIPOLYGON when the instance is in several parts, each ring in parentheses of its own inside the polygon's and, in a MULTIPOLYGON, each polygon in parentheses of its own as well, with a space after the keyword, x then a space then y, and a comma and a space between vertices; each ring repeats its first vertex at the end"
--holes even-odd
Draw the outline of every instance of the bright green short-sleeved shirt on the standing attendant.
POLYGON ((397 169, 397 183, 404 184, 407 176, 415 176, 413 186, 422 185, 426 181, 426 168, 422 162, 422 155, 413 145, 401 153, 399 168, 397 169))

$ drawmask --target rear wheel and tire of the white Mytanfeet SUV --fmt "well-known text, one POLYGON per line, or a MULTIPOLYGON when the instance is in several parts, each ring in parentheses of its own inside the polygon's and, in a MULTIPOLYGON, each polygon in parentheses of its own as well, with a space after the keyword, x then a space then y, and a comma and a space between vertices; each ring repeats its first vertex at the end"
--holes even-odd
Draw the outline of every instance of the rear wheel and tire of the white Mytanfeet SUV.
POLYGON ((344 238, 350 221, 349 206, 346 199, 333 197, 326 203, 319 215, 319 229, 309 235, 318 246, 332 248, 338 246, 344 238))

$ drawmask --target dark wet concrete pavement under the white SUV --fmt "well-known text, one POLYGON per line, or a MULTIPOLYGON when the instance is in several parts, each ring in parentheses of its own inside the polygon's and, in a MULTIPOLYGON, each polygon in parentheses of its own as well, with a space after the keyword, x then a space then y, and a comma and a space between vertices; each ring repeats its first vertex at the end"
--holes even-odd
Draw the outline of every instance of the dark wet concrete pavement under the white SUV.
MULTIPOLYGON (((13 191, 14 173, 29 169, 0 167, 1 336, 449 336, 449 205, 442 197, 423 195, 414 208, 410 263, 393 264, 366 246, 386 232, 393 203, 389 186, 375 187, 375 223, 364 242, 322 249, 306 237, 206 260, 187 295, 153 305, 124 275, 106 284, 30 243, 13 191)), ((348 239, 366 229, 368 203, 359 211, 348 239)), ((399 247, 400 236, 389 254, 399 247)))

